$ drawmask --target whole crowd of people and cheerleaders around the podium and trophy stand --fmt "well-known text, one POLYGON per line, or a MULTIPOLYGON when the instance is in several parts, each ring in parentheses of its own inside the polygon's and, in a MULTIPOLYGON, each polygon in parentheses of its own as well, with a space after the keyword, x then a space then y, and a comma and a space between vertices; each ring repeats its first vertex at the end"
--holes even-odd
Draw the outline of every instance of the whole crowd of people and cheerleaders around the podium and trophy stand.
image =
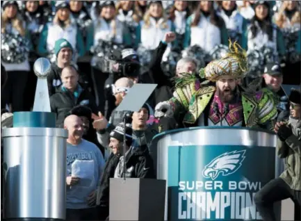
POLYGON ((255 202, 264 220, 275 220, 270 205, 291 197, 300 219, 300 90, 282 88, 300 85, 300 6, 1 1, 1 127, 13 126, 13 112, 32 110, 33 63, 47 57, 51 112, 69 132, 67 220, 106 220, 109 179, 156 178, 152 138, 191 126, 277 133, 286 170, 255 202), (140 111, 115 111, 135 83, 157 86, 140 111))

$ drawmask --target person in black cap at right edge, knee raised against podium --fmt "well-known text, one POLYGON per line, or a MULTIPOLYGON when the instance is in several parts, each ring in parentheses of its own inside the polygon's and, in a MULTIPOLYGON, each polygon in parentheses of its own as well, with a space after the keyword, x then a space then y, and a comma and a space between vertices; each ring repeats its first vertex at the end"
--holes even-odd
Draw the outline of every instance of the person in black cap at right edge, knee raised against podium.
POLYGON ((277 122, 278 155, 285 159, 285 170, 255 195, 254 202, 263 220, 276 220, 273 204, 291 198, 295 203, 295 220, 301 213, 301 93, 291 90, 291 115, 288 122, 277 122))

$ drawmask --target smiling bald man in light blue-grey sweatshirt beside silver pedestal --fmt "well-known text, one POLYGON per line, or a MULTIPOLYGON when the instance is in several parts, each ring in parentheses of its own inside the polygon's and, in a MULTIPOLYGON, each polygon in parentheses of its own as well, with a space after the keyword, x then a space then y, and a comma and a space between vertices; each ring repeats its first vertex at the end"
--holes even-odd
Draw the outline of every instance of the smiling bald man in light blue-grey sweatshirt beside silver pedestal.
POLYGON ((97 220, 97 185, 104 157, 92 142, 83 140, 83 122, 76 115, 66 117, 68 131, 66 167, 66 220, 97 220))

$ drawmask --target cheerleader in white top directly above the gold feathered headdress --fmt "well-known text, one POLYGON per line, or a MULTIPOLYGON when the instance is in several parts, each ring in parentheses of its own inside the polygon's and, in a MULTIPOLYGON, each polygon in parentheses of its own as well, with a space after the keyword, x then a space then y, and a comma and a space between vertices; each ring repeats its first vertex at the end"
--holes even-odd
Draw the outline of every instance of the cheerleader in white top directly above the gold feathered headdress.
POLYGON ((231 42, 238 42, 243 49, 247 48, 247 19, 237 10, 235 1, 221 1, 218 15, 224 19, 231 42))

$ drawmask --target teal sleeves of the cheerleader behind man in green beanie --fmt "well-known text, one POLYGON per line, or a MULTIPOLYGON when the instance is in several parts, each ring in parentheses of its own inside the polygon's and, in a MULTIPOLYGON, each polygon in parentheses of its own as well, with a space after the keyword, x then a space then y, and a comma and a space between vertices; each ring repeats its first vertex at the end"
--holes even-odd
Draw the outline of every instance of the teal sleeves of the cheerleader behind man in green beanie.
MULTIPOLYGON (((48 38, 48 25, 46 24, 40 33, 40 38, 38 42, 38 54, 40 56, 47 56, 49 51, 47 50, 47 38, 48 38)), ((79 54, 79 57, 86 54, 85 44, 83 42, 83 36, 81 33, 76 31, 76 51, 79 54)))

